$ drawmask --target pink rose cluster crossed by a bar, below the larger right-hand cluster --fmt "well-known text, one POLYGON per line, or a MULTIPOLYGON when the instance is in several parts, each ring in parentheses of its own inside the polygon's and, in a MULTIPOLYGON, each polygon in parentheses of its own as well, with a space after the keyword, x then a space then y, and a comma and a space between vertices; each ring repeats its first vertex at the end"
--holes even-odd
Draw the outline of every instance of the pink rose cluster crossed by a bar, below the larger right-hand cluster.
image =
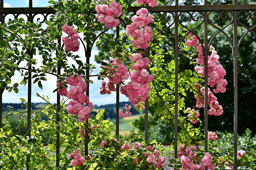
MULTIPOLYGON (((201 88, 200 92, 195 95, 196 98, 196 107, 202 108, 204 107, 204 87, 201 88)), ((210 105, 210 109, 208 110, 208 115, 220 116, 223 113, 223 108, 219 105, 217 98, 213 95, 213 93, 208 88, 208 105, 210 105)))

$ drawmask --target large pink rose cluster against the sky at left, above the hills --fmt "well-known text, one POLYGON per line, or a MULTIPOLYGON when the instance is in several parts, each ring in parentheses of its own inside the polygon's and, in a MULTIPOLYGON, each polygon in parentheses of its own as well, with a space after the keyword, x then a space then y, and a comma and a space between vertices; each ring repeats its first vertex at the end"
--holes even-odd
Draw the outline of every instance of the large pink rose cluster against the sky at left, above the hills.
POLYGON ((82 80, 82 75, 76 74, 66 78, 66 82, 71 86, 69 91, 64 87, 63 82, 57 82, 58 93, 61 96, 66 96, 69 99, 73 99, 69 102, 67 107, 68 114, 78 114, 78 121, 86 121, 93 109, 92 102, 89 101, 89 97, 84 93, 87 90, 86 82, 82 80), (83 106, 86 104, 86 106, 83 106))

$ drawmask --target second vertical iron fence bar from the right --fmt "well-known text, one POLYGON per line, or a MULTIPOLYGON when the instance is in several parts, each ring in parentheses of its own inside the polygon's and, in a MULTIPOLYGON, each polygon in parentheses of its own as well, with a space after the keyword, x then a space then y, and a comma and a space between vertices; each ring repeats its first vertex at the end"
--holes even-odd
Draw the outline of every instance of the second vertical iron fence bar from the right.
MULTIPOLYGON (((207 0, 204 1, 207 5, 207 0)), ((208 151, 208 20, 204 11, 204 152, 208 151)), ((206 168, 207 169, 207 168, 206 168)))

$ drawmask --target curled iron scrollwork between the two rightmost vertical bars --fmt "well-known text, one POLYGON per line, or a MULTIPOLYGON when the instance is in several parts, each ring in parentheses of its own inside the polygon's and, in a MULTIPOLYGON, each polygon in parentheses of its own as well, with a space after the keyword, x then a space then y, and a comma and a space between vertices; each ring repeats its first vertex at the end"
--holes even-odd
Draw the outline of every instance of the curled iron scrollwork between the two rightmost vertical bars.
MULTIPOLYGON (((230 42, 230 45, 231 45, 231 47, 232 47, 232 51, 234 51, 234 45, 233 45, 232 40, 231 40, 230 37, 223 31, 225 28, 227 28, 229 25, 231 25, 231 24, 233 23, 233 21, 234 21, 234 14, 233 14, 233 12, 231 12, 231 11, 210 11, 210 12, 208 13, 208 15, 207 15, 207 20, 208 20, 208 23, 209 23, 212 27, 214 27, 214 28, 216 28, 216 29, 218 30, 218 31, 214 34, 214 36, 211 38, 211 40, 210 40, 210 42, 209 42, 208 48, 210 48, 210 45, 211 45, 213 39, 221 32, 221 33, 223 33, 223 34, 227 37, 227 39, 228 39, 228 41, 230 42), (227 13, 229 13, 232 18, 231 18, 231 21, 230 21, 226 26, 224 26, 223 28, 219 28, 219 27, 217 27, 216 25, 214 25, 214 24, 210 21, 210 17, 209 17, 209 16, 210 16, 211 13, 217 13, 217 14, 218 14, 218 17, 217 17, 217 18, 216 18, 215 16, 213 17, 213 20, 214 20, 214 21, 219 21, 219 20, 226 21, 226 20, 228 20, 227 13)), ((209 50, 209 49, 208 49, 208 50, 209 50)))

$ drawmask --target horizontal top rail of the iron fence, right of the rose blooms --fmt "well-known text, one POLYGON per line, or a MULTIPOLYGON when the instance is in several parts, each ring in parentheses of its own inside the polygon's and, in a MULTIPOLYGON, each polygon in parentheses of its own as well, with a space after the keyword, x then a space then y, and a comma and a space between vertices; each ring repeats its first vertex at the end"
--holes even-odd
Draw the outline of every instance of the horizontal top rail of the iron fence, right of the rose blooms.
MULTIPOLYGON (((136 12, 141 6, 132 6, 127 9, 128 12, 136 12)), ((234 10, 256 10, 256 5, 172 5, 148 7, 149 12, 183 12, 183 11, 234 11, 234 10)))

